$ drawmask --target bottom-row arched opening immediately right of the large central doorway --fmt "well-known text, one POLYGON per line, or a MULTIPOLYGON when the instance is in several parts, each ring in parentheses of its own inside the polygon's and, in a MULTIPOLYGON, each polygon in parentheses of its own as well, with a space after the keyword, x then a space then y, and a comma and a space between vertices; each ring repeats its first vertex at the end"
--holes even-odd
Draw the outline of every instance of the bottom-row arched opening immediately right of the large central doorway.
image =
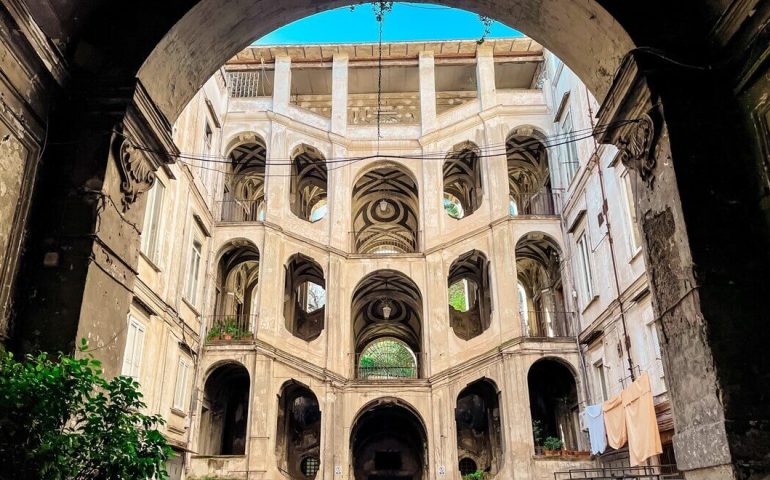
POLYGON ((485 378, 469 384, 457 396, 457 455, 463 475, 478 471, 494 476, 500 470, 503 434, 498 397, 495 384, 485 378))

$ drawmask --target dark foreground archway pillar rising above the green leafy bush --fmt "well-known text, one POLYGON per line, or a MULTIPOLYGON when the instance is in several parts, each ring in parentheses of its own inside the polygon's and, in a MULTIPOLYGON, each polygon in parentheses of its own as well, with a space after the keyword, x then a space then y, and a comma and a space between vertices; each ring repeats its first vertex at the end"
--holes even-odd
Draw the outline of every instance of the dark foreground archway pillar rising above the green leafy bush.
POLYGON ((87 338, 113 376, 125 347, 146 192, 155 170, 178 151, 141 85, 89 93, 89 102, 75 98, 51 120, 16 302, 24 321, 15 350, 73 352, 87 338))

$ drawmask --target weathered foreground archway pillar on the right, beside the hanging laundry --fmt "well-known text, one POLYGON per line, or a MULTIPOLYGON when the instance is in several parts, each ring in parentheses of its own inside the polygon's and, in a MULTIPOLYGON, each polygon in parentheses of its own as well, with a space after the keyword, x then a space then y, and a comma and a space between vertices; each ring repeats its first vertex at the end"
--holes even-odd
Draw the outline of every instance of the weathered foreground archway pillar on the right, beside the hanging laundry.
POLYGON ((636 172, 677 463, 688 480, 748 472, 759 478, 770 470, 766 362, 760 366, 767 357, 768 260, 757 255, 766 251, 767 233, 735 238, 762 215, 746 182, 751 155, 734 147, 740 128, 727 126, 737 117, 732 87, 645 60, 625 59, 597 121, 633 123, 597 137, 617 145, 620 161, 636 172), (694 97, 710 100, 685 100, 694 97), (715 111, 723 121, 693 121, 715 111))

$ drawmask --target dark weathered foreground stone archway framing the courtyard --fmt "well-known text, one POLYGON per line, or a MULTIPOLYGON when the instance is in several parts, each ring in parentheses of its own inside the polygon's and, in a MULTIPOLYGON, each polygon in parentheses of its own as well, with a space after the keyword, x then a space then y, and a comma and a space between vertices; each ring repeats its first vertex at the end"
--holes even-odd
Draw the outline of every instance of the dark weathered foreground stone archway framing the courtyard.
MULTIPOLYGON (((46 103, 57 105, 46 122, 52 142, 32 199, 23 280, 15 295, 16 345, 68 350, 84 331, 106 338, 120 331, 135 274, 142 194, 152 183, 151 171, 175 152, 169 122, 219 64, 255 36, 347 3, 42 1, 26 6, 29 15, 23 9, 9 14, 21 25, 13 31, 25 38, 40 34, 32 48, 24 46, 30 71, 45 76, 44 81, 28 79, 26 108, 32 113, 27 116, 40 124, 46 103), (27 34, 32 20, 35 34, 27 34), (58 48, 50 48, 54 44, 58 48), (39 57, 29 60, 29 55, 39 57), (71 82, 64 81, 68 69, 74 73, 71 82), (54 88, 55 83, 63 88, 54 88), (134 144, 171 155, 138 153, 134 144), (118 207, 102 209, 105 199, 118 207), (134 229, 122 231, 124 221, 134 229), (55 264, 44 264, 43 258, 55 264), (114 302, 97 308, 105 297, 114 302), (61 332, 58 338, 39 333, 53 329, 61 332)), ((439 3, 497 18, 554 51, 605 100, 599 124, 635 120, 600 140, 618 144, 624 163, 643 172, 645 255, 667 343, 664 364, 668 376, 677 379, 670 385, 677 457, 695 472, 733 475, 733 466, 742 472, 770 471, 770 411, 764 401, 770 382, 756 379, 770 363, 770 330, 764 328, 770 306, 765 300, 770 299, 770 220, 759 206, 767 197, 760 178, 768 154, 760 140, 765 131, 753 130, 761 122, 752 100, 761 97, 754 86, 759 93, 767 90, 757 78, 769 68, 763 58, 770 6, 439 3), (634 45, 661 49, 666 58, 684 62, 677 65, 649 49, 627 55, 634 45), (719 68, 706 68, 712 64, 719 68), (743 231, 749 234, 737 242, 735 232, 743 231), (734 305, 743 306, 738 317, 734 305)), ((38 146, 43 131, 33 133, 38 146)), ((24 215, 20 221, 23 231, 24 215)), ((5 330, 5 322, 1 326, 5 330)), ((124 335, 115 338, 115 345, 102 351, 108 372, 125 341, 124 335)))

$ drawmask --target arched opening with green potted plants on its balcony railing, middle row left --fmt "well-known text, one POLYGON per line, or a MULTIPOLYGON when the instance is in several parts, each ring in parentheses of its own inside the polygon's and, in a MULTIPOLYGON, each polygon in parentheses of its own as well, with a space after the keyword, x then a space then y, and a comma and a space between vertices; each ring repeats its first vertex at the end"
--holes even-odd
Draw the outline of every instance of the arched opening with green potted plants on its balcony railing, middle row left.
POLYGON ((207 340, 238 339, 253 334, 258 316, 259 250, 249 241, 233 241, 219 259, 214 315, 207 340))

